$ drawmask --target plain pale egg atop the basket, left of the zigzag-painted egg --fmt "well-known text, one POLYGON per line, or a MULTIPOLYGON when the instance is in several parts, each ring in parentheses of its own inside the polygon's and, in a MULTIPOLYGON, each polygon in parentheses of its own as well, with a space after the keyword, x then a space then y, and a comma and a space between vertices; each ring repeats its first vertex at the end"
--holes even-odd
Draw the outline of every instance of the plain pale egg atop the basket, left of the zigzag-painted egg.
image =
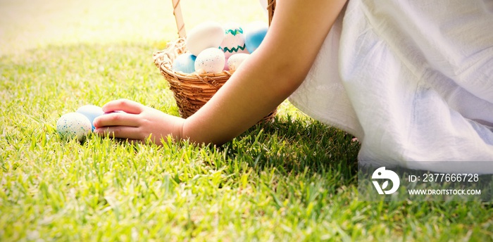
POLYGON ((211 47, 218 48, 223 42, 224 30, 219 23, 208 21, 196 25, 187 34, 185 44, 194 56, 211 47))

